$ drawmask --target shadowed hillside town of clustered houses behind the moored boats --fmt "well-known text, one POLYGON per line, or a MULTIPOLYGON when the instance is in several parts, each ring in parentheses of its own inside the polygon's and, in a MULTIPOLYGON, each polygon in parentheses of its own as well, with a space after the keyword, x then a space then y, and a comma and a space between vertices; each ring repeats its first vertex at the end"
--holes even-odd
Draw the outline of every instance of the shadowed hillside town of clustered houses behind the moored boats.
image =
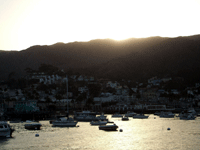
POLYGON ((9 111, 66 111, 68 108, 76 110, 88 108, 93 110, 143 108, 164 110, 200 107, 200 84, 197 83, 195 87, 188 87, 183 91, 166 90, 165 85, 173 81, 172 78, 153 77, 146 83, 132 84, 130 80, 111 81, 84 75, 61 77, 33 73, 26 80, 35 82, 24 89, 11 89, 5 83, 0 84, 0 115, 9 111), (69 87, 68 82, 71 82, 69 87), (100 85, 99 94, 91 97, 89 85, 100 85), (183 92, 187 93, 186 96, 182 95, 183 92), (85 96, 80 100, 80 96, 84 94, 85 96), (92 102, 90 101, 88 107, 89 98, 92 98, 92 102))

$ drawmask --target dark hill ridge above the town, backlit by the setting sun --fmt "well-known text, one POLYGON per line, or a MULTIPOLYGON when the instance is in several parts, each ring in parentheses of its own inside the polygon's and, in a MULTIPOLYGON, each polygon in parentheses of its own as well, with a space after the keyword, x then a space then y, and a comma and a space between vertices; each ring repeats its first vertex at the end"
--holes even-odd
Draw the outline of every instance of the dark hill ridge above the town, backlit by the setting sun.
POLYGON ((146 80, 166 75, 191 78, 193 75, 198 80, 199 37, 104 39, 1 51, 0 78, 7 79, 11 72, 21 77, 25 75, 25 68, 37 69, 46 63, 65 70, 85 69, 85 73, 113 79, 146 80))

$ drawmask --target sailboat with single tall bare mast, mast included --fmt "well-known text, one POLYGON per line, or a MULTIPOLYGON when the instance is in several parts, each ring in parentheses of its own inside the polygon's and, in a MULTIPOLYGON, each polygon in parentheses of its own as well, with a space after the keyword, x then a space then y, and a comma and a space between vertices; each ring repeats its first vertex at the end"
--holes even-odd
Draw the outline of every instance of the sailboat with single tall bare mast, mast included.
POLYGON ((69 108, 68 108, 68 78, 67 78, 67 117, 60 117, 57 120, 53 121, 53 126, 56 127, 76 127, 78 123, 73 118, 69 117, 69 108))

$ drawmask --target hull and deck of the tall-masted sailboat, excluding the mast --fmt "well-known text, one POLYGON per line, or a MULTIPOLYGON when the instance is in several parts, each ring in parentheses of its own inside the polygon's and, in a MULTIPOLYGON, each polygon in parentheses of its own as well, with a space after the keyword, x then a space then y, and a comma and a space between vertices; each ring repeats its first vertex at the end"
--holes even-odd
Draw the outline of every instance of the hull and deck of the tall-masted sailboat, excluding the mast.
POLYGON ((76 127, 78 122, 73 118, 61 117, 52 122, 55 127, 76 127))

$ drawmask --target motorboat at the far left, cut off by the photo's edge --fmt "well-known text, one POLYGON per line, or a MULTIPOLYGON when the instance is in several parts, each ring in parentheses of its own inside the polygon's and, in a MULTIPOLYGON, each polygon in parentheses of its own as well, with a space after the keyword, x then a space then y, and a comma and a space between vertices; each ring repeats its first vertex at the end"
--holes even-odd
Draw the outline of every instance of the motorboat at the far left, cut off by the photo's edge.
POLYGON ((0 137, 12 137, 14 131, 6 121, 0 121, 0 137))

